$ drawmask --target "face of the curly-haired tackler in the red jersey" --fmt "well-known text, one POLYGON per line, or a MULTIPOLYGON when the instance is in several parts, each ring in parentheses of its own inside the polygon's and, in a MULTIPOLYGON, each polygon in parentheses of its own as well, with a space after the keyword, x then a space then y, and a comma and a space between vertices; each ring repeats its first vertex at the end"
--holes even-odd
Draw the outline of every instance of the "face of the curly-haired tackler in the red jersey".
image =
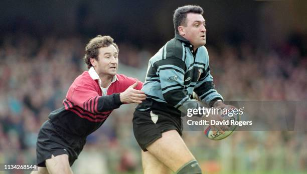
POLYGON ((118 68, 118 52, 113 45, 98 49, 98 60, 93 59, 94 66, 99 77, 114 76, 118 68))

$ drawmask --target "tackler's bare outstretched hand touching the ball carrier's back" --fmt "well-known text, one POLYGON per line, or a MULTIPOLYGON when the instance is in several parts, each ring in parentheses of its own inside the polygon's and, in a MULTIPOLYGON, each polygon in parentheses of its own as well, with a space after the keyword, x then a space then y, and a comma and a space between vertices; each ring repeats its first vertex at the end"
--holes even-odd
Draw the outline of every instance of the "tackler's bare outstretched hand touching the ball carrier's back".
POLYGON ((137 86, 136 81, 133 85, 129 86, 124 92, 119 94, 120 101, 122 103, 142 103, 142 100, 146 99, 146 95, 143 91, 134 89, 137 86))

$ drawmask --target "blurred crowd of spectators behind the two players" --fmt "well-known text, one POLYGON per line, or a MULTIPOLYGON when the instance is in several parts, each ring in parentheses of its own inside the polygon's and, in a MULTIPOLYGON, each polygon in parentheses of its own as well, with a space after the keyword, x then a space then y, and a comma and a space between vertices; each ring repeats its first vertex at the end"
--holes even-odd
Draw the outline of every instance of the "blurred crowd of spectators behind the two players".
MULTIPOLYGON (((40 126, 52 110, 61 107, 73 80, 87 70, 82 58, 88 40, 54 36, 38 40, 29 35, 6 35, 3 39, 0 163, 35 164, 40 126)), ((158 50, 117 44, 119 72, 143 81, 147 61, 158 50)), ((297 45, 284 42, 261 48, 242 42, 218 47, 208 43, 206 47, 216 88, 225 100, 307 100, 307 57, 297 45)), ((141 171, 140 148, 132 132, 133 110, 131 105, 114 110, 87 138, 73 166, 75 173, 141 171)), ((202 132, 186 131, 183 138, 207 173, 307 170, 304 131, 240 131, 223 141, 206 139, 202 132)))

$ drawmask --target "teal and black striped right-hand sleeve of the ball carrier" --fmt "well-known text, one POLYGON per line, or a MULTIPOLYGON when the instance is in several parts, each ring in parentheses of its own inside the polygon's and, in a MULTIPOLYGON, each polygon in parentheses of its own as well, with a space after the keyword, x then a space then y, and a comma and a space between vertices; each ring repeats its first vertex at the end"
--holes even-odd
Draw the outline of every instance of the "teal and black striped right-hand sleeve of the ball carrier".
POLYGON ((216 100, 223 100, 223 97, 215 89, 213 77, 210 74, 209 61, 207 69, 203 71, 198 83, 195 85, 194 92, 199 96, 199 99, 209 107, 213 107, 216 100))

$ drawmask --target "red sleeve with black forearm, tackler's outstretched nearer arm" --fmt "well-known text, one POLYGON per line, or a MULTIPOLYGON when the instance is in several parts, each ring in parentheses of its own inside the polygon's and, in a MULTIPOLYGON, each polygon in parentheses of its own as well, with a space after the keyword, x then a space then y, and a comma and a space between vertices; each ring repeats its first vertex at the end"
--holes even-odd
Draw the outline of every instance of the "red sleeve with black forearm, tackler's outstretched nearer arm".
POLYGON ((119 108, 122 104, 119 93, 99 96, 94 85, 91 84, 83 84, 72 88, 66 98, 74 105, 94 114, 119 108))

